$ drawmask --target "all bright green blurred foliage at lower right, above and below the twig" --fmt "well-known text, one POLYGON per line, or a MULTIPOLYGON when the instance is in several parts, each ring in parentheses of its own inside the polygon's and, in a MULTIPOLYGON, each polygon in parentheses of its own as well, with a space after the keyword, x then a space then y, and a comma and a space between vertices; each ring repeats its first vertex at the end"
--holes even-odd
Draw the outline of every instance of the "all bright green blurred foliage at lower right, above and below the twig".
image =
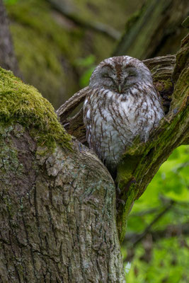
MULTIPOLYGON (((134 204, 130 214, 127 233, 142 233, 168 202, 174 204, 166 214, 154 223, 149 231, 161 231, 167 226, 189 223, 189 146, 180 146, 161 166, 142 197, 134 204)), ((125 262, 127 283, 187 283, 189 282, 189 236, 182 233, 176 237, 164 235, 159 241, 143 241, 134 247, 131 266, 125 262), (145 254, 148 260, 145 260, 145 254)), ((132 243, 122 247, 126 258, 132 243)))

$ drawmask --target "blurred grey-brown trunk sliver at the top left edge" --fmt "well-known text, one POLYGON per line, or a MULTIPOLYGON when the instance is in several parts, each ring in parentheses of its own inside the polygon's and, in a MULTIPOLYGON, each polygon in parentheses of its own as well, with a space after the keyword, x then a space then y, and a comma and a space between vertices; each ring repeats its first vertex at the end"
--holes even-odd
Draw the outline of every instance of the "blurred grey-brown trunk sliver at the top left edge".
POLYGON ((13 74, 20 76, 18 64, 13 52, 13 43, 8 28, 8 19, 2 0, 0 0, 0 66, 13 71, 13 74))

